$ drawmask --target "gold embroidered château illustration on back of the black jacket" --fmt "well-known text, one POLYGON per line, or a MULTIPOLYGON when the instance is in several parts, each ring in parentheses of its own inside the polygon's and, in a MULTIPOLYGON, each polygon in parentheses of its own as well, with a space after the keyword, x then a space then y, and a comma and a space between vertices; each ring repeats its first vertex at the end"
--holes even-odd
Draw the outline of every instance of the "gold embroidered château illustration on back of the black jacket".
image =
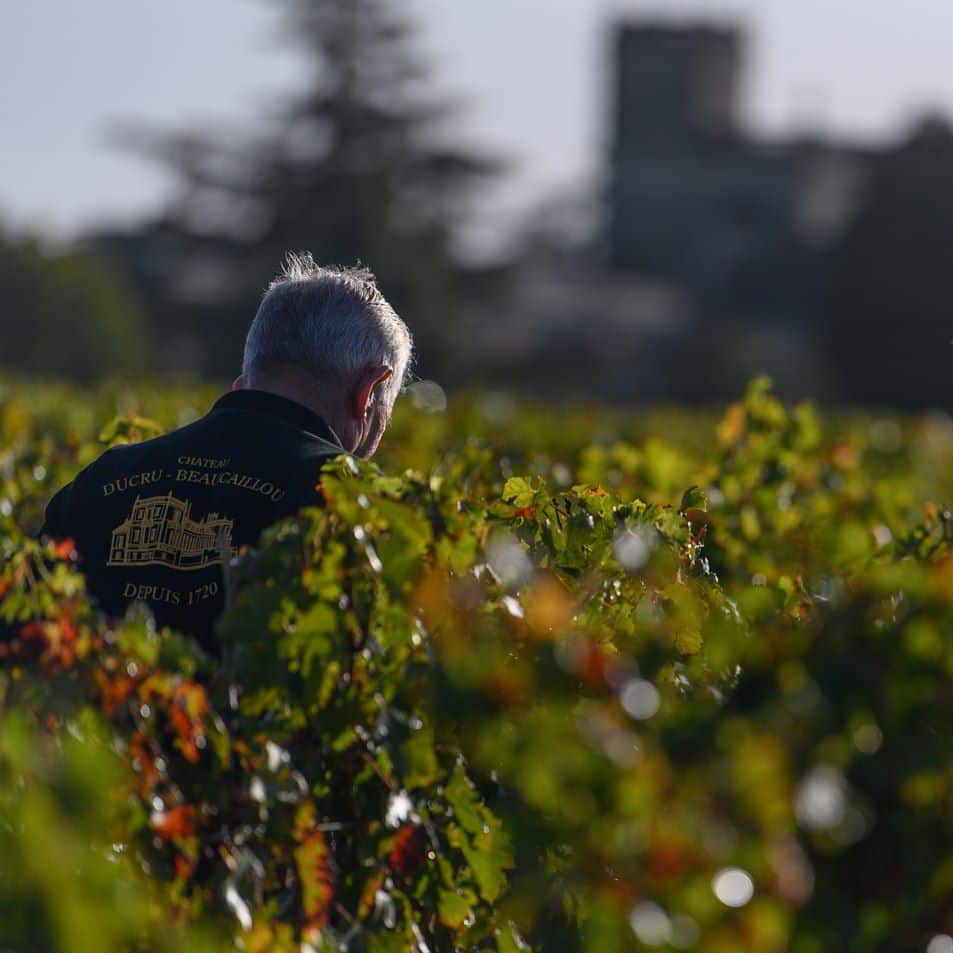
POLYGON ((205 569, 231 553, 232 520, 209 513, 190 515, 192 504, 166 496, 136 497, 132 512, 114 530, 109 566, 169 566, 205 569))

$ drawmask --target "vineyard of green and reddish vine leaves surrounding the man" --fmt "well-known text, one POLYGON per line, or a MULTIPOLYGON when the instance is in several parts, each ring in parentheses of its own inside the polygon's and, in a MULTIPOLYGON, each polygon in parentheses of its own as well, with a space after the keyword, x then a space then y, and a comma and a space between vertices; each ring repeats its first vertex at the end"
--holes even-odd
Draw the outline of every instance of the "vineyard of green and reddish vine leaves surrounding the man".
POLYGON ((426 396, 216 659, 34 538, 215 392, 0 382, 0 949, 951 953, 953 422, 426 396))

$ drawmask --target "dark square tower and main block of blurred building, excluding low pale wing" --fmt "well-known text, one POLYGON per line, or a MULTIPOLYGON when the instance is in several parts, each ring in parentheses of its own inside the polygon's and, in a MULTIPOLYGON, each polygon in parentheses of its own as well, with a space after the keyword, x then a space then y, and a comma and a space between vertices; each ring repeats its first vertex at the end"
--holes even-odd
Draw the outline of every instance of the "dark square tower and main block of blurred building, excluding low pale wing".
POLYGON ((747 134, 743 67, 737 29, 619 28, 606 263, 688 295, 676 396, 727 396, 766 371, 792 395, 834 397, 827 264, 873 156, 747 134))

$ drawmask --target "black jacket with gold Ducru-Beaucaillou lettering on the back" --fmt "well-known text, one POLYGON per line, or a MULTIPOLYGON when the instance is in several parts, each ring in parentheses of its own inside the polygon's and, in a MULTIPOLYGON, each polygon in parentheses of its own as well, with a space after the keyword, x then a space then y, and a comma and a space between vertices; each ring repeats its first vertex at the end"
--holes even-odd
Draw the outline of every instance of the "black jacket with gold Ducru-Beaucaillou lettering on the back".
POLYGON ((107 450, 50 500, 41 533, 75 542, 108 613, 144 601, 159 625, 214 652, 223 561, 282 517, 320 505, 318 471, 344 452, 301 404, 233 391, 187 427, 107 450))

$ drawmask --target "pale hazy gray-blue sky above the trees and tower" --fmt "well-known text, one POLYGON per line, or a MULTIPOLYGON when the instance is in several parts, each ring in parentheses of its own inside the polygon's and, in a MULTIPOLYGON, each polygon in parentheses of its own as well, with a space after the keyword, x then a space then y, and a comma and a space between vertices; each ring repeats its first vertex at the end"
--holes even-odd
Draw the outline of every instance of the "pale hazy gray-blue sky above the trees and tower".
MULTIPOLYGON (((501 222, 598 172, 618 15, 743 18, 762 132, 892 137, 922 109, 953 114, 950 0, 404 2, 436 84, 465 104, 459 135, 516 163, 484 199, 501 222)), ((168 183, 107 144, 111 123, 246 123, 300 76, 267 0, 4 0, 0 219, 70 235, 141 216, 168 183)))

